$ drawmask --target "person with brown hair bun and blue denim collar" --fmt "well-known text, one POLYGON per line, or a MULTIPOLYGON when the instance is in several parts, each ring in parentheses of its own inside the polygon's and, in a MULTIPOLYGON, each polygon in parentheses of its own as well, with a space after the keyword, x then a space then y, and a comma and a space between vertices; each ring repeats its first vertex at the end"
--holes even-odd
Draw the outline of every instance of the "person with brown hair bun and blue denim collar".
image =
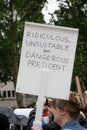
MULTIPOLYGON (((61 126, 61 130, 85 130, 78 122, 80 111, 84 107, 83 98, 79 94, 71 92, 69 100, 54 99, 49 110, 54 115, 54 121, 61 126)), ((32 127, 32 130, 35 128, 32 127)))

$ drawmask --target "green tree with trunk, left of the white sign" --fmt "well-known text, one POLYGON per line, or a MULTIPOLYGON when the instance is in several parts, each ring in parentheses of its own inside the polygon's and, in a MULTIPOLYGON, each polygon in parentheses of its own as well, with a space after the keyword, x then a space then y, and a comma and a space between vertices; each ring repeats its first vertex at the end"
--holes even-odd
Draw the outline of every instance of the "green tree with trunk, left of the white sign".
POLYGON ((12 81, 16 88, 24 22, 45 23, 46 0, 0 1, 0 82, 12 81))

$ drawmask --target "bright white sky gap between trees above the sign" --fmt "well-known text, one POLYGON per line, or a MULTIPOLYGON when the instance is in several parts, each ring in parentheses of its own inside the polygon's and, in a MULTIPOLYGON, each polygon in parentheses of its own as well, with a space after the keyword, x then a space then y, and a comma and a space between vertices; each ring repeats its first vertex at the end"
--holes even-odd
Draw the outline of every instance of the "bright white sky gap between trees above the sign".
POLYGON ((50 15, 48 13, 53 13, 55 9, 58 9, 58 3, 56 0, 48 0, 48 4, 44 7, 42 13, 44 14, 44 19, 49 23, 50 15))

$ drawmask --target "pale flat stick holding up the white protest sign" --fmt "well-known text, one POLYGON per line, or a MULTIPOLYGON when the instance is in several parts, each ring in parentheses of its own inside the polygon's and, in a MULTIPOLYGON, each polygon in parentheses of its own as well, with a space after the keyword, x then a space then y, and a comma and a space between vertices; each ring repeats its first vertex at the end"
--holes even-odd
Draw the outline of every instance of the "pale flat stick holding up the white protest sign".
POLYGON ((42 71, 41 81, 39 86, 39 95, 36 104, 35 121, 41 121, 42 119, 42 111, 44 105, 44 97, 46 95, 47 84, 48 84, 48 71, 42 71))

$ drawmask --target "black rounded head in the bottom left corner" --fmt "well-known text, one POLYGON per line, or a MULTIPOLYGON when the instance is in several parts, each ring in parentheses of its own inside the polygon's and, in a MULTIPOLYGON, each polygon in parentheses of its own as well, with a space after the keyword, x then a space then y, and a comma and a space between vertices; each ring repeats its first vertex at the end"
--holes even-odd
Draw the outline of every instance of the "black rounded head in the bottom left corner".
POLYGON ((0 113, 0 130, 9 129, 10 123, 6 115, 0 113))

